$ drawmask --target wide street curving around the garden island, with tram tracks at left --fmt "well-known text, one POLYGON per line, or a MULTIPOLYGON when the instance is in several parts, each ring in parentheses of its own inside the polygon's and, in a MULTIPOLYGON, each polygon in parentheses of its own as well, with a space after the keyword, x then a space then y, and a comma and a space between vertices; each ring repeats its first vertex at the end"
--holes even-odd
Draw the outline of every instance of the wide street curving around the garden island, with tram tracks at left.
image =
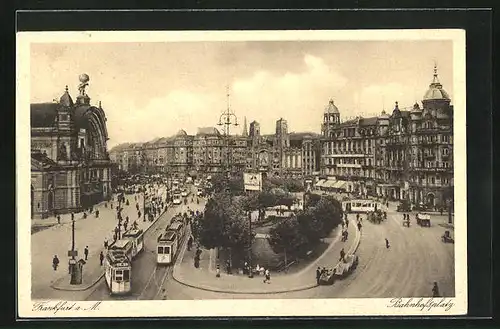
MULTIPOLYGON (((145 233, 145 249, 132 263, 130 295, 110 296, 105 280, 101 279, 86 291, 59 291, 57 297, 88 301, 430 297, 434 281, 438 282, 442 295, 454 295, 454 245, 441 242, 445 229, 438 225, 445 222, 445 216, 434 215, 437 219, 426 228, 416 225, 412 215, 412 225, 407 228, 402 226, 402 215, 394 211, 388 212, 388 220, 381 224, 363 220, 357 250, 359 266, 351 276, 332 286, 259 295, 210 292, 185 286, 173 279, 173 266, 157 266, 155 251, 157 236, 175 214, 188 209, 203 210, 204 200, 200 200, 200 204, 192 203, 191 196, 186 205, 170 207, 145 233), (389 240, 390 248, 386 248, 385 238, 389 240)), ((53 293, 51 296, 55 297, 53 293)))

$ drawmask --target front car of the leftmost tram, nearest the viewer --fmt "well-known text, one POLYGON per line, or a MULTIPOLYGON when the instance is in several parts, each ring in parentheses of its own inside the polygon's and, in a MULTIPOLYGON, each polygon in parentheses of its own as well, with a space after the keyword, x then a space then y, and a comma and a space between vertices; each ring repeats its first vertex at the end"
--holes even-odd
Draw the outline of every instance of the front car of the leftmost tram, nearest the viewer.
POLYGON ((104 277, 111 295, 124 295, 131 291, 130 259, 123 250, 109 250, 104 260, 104 277))

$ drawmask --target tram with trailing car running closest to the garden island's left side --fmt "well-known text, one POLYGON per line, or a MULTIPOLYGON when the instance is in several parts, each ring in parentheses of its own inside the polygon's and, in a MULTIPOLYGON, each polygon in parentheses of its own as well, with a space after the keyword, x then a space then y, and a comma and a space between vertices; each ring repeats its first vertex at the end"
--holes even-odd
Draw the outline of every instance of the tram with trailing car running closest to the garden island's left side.
POLYGON ((186 224, 180 216, 172 219, 165 232, 158 236, 156 248, 156 262, 170 265, 176 259, 186 235, 186 224))

